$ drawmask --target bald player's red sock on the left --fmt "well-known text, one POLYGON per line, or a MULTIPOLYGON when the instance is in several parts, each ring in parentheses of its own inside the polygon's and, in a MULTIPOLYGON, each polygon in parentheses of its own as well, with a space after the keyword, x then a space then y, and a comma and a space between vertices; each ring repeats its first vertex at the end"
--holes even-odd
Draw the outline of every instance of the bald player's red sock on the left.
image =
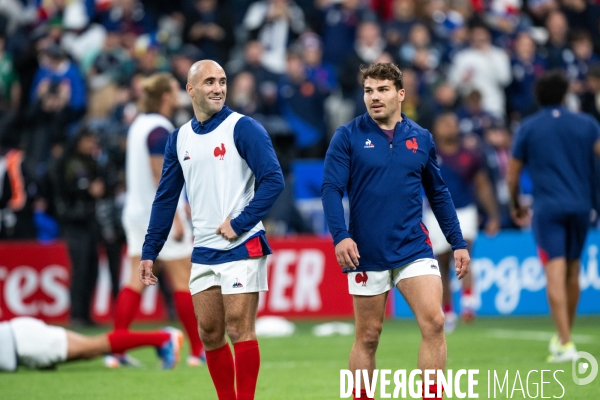
POLYGON ((207 351, 206 364, 219 400, 236 400, 235 370, 229 344, 226 343, 219 349, 207 351))

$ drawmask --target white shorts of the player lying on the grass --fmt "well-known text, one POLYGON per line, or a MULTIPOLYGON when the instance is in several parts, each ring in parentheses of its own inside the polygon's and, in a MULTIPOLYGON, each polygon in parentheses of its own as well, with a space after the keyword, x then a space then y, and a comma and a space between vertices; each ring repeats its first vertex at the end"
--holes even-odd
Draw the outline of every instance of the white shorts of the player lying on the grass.
POLYGON ((67 331, 29 317, 10 320, 19 365, 48 368, 67 360, 67 331))

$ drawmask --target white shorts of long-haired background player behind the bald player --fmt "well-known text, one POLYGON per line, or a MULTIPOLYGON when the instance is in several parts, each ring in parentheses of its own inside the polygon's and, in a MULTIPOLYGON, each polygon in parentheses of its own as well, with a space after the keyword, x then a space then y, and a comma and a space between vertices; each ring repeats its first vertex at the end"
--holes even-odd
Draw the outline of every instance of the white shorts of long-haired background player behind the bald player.
MULTIPOLYGON (((124 219, 123 229, 125 229, 125 236, 127 236, 127 255, 129 257, 141 256, 148 226, 124 219)), ((173 230, 171 229, 169 237, 158 255, 158 259, 170 261, 189 258, 194 250, 194 243, 192 229, 188 226, 187 222, 183 224, 183 239, 181 241, 177 242, 173 239, 172 235, 173 230)))

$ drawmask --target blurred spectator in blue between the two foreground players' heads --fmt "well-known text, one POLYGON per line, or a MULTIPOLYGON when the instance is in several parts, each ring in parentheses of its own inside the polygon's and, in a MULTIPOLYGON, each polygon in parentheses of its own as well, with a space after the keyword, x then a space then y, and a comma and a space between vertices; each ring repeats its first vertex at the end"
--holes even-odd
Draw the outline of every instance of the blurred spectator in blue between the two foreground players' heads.
POLYGON ((280 113, 296 138, 301 158, 325 156, 327 93, 306 76, 300 55, 289 53, 287 73, 279 82, 280 113))

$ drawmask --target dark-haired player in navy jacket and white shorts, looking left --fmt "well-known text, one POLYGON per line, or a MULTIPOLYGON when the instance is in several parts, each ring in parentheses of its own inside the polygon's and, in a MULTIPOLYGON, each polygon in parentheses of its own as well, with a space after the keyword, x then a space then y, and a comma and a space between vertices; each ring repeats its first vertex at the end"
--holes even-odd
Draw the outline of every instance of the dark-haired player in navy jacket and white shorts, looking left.
MULTIPOLYGON (((362 73, 367 113, 335 132, 322 188, 335 255, 348 272, 354 299, 356 338, 349 367, 369 370, 372 378, 385 303, 396 286, 421 329, 418 367, 443 370, 442 280, 421 221, 421 185, 454 249, 459 279, 469 270, 467 243, 437 166, 431 134, 401 113, 402 73, 393 64, 374 64, 362 73), (345 190, 350 199, 349 231, 342 206, 345 190)), ((357 396, 367 398, 366 391, 357 396)))

